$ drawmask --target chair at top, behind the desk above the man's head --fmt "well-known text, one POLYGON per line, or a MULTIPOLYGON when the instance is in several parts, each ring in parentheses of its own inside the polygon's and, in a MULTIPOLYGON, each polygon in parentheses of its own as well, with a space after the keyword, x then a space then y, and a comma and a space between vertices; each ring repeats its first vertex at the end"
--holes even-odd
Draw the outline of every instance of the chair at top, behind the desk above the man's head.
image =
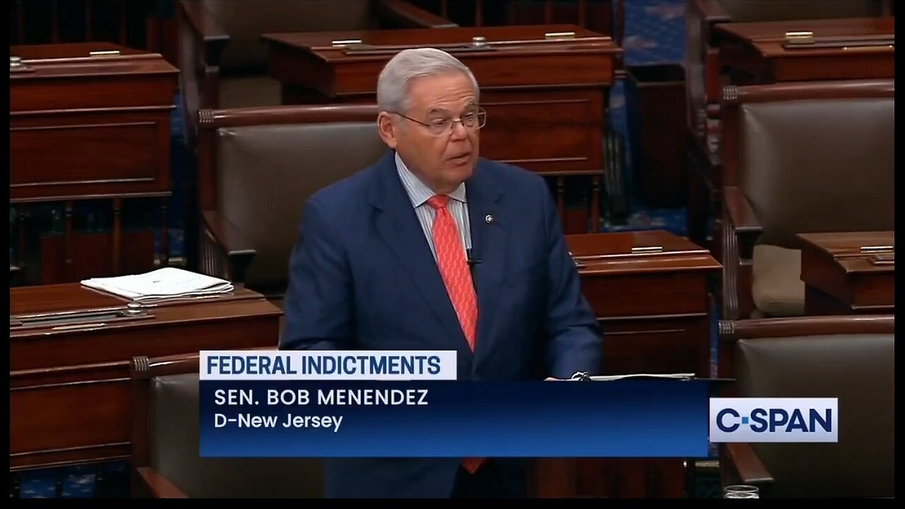
POLYGON ((190 146, 198 110, 281 104, 262 34, 456 26, 406 0, 180 0, 177 13, 190 146))

